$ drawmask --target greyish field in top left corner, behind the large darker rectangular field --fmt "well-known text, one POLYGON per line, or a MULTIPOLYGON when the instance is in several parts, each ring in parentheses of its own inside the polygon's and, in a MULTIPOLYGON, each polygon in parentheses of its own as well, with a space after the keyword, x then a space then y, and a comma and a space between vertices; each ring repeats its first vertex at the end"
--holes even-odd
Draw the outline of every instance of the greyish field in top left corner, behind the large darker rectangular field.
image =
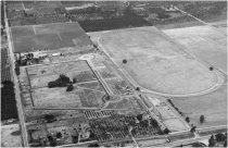
POLYGON ((10 26, 69 22, 60 1, 8 1, 10 26))

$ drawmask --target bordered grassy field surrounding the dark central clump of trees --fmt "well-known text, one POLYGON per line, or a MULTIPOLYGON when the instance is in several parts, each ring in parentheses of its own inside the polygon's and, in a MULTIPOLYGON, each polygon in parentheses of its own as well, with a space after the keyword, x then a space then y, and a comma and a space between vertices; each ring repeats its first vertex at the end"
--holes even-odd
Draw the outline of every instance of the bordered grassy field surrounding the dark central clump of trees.
POLYGON ((28 115, 36 114, 35 111, 29 111, 33 106, 37 108, 67 109, 100 108, 104 103, 102 98, 106 92, 84 60, 22 67, 21 72, 20 83, 24 85, 21 87, 22 91, 24 91, 21 96, 28 115), (26 70, 28 72, 27 76, 26 70), (66 91, 66 87, 48 87, 48 83, 58 79, 60 74, 65 74, 71 81, 76 78, 73 91, 66 91), (31 91, 30 95, 29 91, 31 91))

